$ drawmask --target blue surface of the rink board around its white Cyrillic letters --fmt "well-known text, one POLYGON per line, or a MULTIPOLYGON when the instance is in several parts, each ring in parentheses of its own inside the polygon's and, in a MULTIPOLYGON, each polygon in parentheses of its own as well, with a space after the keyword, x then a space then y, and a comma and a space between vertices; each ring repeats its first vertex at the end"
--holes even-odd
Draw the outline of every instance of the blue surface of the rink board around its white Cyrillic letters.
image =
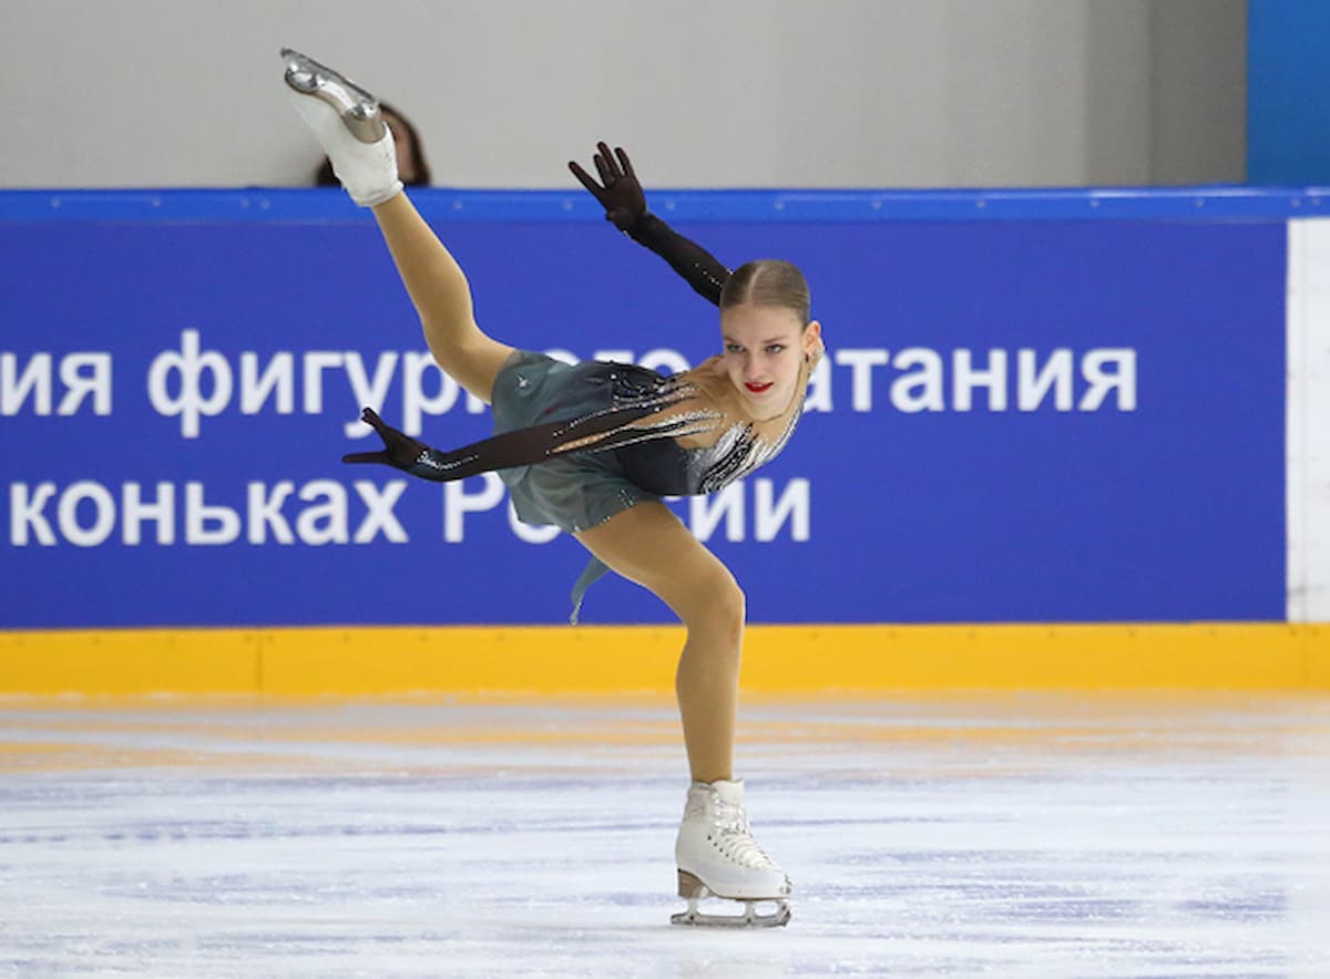
MULTIPOLYGON (((994 194, 920 194, 916 210, 907 194, 830 195, 821 218, 805 199, 817 194, 786 195, 802 203, 782 209, 777 194, 652 197, 732 266, 769 255, 803 267, 833 356, 927 348, 950 364, 970 349, 983 365, 1000 349, 1015 375, 1021 349, 1040 363, 1055 349, 1077 364, 1095 349, 1134 355, 1133 409, 1109 399, 1069 412, 1047 401, 1017 410, 1013 380, 1004 410, 991 410, 983 389, 971 410, 950 396, 943 410, 899 410, 892 367, 872 371, 871 409, 858 410, 853 368, 834 365, 834 409, 810 412, 757 474, 777 491, 809 481, 809 539, 791 541, 789 523, 774 541, 753 539, 750 485, 745 539, 709 541, 747 591, 753 622, 1283 618, 1285 219, 1319 197, 1103 195, 1117 203, 1091 209, 1093 194, 1067 191, 1041 210, 1039 195, 1009 194, 1000 218, 975 209, 994 194), (963 207, 983 214, 964 219, 963 207)), ((714 311, 579 201, 420 195, 496 337, 579 356, 665 347, 697 363, 716 352, 714 311)), ((231 405, 186 438, 180 418, 148 397, 152 364, 181 349, 182 331, 197 331, 233 369, 243 352, 267 363, 283 351, 298 361, 355 351, 372 369, 382 352, 424 344, 378 232, 335 194, 0 194, 0 352, 15 369, 41 352, 56 363, 109 352, 113 361, 109 416, 88 404, 72 417, 40 414, 28 397, 0 417, 0 627, 567 618, 584 557, 575 542, 523 543, 493 510, 469 515, 464 541, 447 543, 442 489, 418 481, 394 506, 410 543, 253 545, 242 533, 233 543, 186 545, 177 514, 170 545, 156 543, 149 522, 138 545, 124 543, 117 526, 96 546, 19 546, 15 486, 45 482, 57 488, 44 509, 56 526, 59 493, 80 481, 117 498, 126 482, 149 495, 168 482, 178 510, 194 481, 210 505, 243 510, 250 482, 332 480, 351 493, 354 533, 363 507, 352 480, 382 488, 404 477, 338 462, 370 448, 343 430, 359 408, 344 375, 327 375, 322 413, 302 410, 297 377, 294 413, 231 405)), ((1084 389, 1077 381, 1077 399, 1084 389)), ((390 421, 400 420, 400 391, 394 376, 390 421)), ((55 402, 61 392, 57 383, 55 402)), ((427 418, 423 437, 454 446, 487 433, 485 416, 456 408, 427 418)), ((299 510, 283 509, 293 526, 299 510)), ((94 515, 90 502, 78 507, 81 526, 94 515)), ((584 620, 670 615, 606 579, 584 620)))

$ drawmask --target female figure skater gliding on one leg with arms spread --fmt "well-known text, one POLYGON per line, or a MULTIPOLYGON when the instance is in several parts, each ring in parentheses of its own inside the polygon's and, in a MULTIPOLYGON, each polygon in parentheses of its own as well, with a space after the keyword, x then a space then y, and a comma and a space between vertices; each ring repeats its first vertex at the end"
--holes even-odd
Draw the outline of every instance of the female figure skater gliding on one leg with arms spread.
POLYGON ((628 157, 618 150, 616 159, 601 143, 598 183, 569 166, 608 219, 720 306, 725 352, 662 377, 625 364, 571 367, 501 344, 476 325, 462 268, 403 193, 374 96, 298 52, 282 54, 291 101, 351 198, 372 209, 435 360, 492 405, 499 433, 440 452, 366 409, 384 448, 344 461, 382 462, 438 481, 497 470, 523 521, 555 523, 591 551, 579 598, 610 569, 680 616, 688 639, 676 691, 693 784, 674 846, 689 910, 672 921, 785 925, 790 881, 753 840, 743 784, 733 773, 743 592, 660 497, 721 489, 789 440, 822 356, 803 276, 774 260, 732 274, 650 215, 628 157), (697 902, 705 897, 741 901, 745 914, 701 914, 697 902), (775 902, 775 911, 758 914, 759 901, 775 902))

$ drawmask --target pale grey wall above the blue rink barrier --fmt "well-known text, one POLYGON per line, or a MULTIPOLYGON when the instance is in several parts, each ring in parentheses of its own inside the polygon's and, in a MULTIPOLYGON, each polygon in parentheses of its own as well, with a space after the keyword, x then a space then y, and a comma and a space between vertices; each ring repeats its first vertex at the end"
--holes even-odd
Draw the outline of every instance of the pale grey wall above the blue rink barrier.
POLYGON ((435 183, 1236 182, 1244 0, 8 0, 3 187, 301 186, 291 45, 396 102, 435 183), (372 11, 372 15, 370 13, 372 11))

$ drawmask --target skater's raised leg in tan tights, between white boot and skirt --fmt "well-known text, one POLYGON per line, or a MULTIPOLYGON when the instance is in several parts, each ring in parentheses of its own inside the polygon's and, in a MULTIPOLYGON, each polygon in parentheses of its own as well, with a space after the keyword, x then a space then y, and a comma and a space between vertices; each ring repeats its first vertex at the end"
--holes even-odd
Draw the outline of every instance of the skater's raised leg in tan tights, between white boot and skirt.
POLYGON ((489 404, 495 375, 513 348, 476 325, 467 276, 404 193, 378 205, 374 217, 420 313, 434 359, 458 384, 489 404))

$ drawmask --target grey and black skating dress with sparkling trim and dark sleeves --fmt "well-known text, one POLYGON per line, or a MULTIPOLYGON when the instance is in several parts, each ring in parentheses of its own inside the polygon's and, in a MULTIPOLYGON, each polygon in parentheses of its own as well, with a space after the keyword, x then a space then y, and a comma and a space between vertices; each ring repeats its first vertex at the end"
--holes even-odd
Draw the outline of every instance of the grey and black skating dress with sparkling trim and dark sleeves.
MULTIPOLYGON (((629 234, 720 304, 730 272, 710 254, 649 214, 629 234)), ((434 481, 497 472, 524 523, 575 534, 646 499, 714 493, 773 458, 794 433, 818 356, 801 363, 785 410, 755 421, 718 356, 666 376, 519 351, 495 379, 495 436, 451 452, 427 448, 407 472, 434 481)), ((579 578, 573 622, 606 570, 592 558, 579 578)))

